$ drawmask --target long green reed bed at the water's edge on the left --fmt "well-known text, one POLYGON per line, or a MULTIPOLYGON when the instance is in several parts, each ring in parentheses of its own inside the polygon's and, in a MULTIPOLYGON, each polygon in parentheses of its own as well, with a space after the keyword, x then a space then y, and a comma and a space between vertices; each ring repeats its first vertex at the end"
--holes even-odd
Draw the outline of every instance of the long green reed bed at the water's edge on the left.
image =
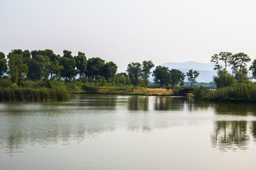
POLYGON ((55 101, 69 100, 71 92, 67 87, 27 88, 7 87, 0 88, 0 101, 55 101))

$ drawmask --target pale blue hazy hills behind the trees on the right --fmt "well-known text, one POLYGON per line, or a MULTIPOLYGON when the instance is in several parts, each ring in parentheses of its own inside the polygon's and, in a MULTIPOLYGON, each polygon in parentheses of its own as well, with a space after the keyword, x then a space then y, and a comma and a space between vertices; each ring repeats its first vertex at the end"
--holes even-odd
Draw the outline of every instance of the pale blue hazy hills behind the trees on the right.
MULTIPOLYGON (((220 65, 225 66, 224 63, 220 63, 220 65)), ((169 69, 177 69, 182 71, 183 73, 187 73, 189 70, 193 69, 196 71, 199 71, 199 76, 197 77, 197 82, 211 82, 212 81, 212 76, 217 75, 217 71, 213 70, 214 68, 214 63, 199 63, 196 61, 187 61, 183 63, 174 63, 174 62, 168 62, 164 63, 161 66, 168 67, 169 69)), ((151 71, 153 71, 156 68, 153 67, 151 71)), ((228 66, 227 70, 232 73, 231 67, 228 66)), ((151 77, 149 78, 151 82, 154 82, 154 78, 151 77)), ((187 82, 187 76, 185 77, 185 82, 187 82)))

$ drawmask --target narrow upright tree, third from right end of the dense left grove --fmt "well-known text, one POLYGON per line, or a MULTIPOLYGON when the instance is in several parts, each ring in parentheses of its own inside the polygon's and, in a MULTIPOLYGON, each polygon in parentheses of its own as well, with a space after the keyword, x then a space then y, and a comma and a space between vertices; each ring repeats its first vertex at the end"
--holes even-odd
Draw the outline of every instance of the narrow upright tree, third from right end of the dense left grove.
POLYGON ((76 61, 77 72, 80 75, 80 79, 84 80, 84 73, 86 73, 87 68, 87 60, 85 54, 79 51, 78 55, 74 56, 74 59, 76 61))

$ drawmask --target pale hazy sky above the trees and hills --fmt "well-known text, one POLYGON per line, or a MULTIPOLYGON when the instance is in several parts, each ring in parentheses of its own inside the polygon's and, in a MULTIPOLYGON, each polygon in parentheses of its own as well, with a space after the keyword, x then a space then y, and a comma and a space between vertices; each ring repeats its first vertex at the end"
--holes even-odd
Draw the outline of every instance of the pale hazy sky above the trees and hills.
POLYGON ((117 64, 256 58, 256 1, 0 0, 0 51, 84 52, 117 64))

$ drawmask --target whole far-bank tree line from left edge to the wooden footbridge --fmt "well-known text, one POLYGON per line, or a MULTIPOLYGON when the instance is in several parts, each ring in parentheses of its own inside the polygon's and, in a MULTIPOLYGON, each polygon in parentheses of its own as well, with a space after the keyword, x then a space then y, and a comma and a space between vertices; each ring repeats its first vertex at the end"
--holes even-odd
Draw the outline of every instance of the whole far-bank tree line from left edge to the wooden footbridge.
POLYGON ((72 56, 69 50, 63 50, 63 56, 55 54, 53 50, 11 50, 7 59, 3 52, 0 52, 0 78, 3 73, 7 73, 11 82, 16 85, 29 79, 32 81, 42 80, 42 87, 49 80, 71 81, 79 80, 83 82, 97 81, 101 85, 106 82, 109 84, 133 84, 133 89, 139 86, 148 87, 149 77, 152 73, 154 83, 159 84, 160 88, 165 86, 183 86, 185 76, 191 83, 196 82, 199 75, 197 71, 190 70, 182 73, 177 69, 169 70, 168 67, 156 66, 155 70, 152 61, 132 62, 127 65, 127 73, 117 73, 117 65, 113 62, 97 58, 86 59, 83 52, 78 52, 77 56, 72 56), (143 85, 144 84, 144 85, 143 85))

